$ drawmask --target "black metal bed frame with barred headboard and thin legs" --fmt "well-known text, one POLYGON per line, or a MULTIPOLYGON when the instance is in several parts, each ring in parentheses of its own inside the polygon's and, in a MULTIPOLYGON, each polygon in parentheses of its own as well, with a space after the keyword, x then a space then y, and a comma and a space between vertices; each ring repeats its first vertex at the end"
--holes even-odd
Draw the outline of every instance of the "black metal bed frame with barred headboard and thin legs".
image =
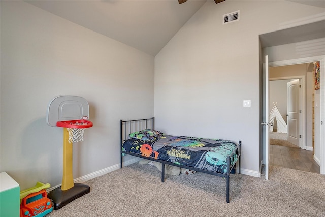
POLYGON ((226 202, 229 203, 230 174, 234 173, 236 162, 238 162, 238 173, 240 174, 241 141, 239 141, 239 143, 236 146, 235 150, 231 154, 229 154, 229 156, 227 156, 226 164, 227 164, 228 171, 225 174, 223 174, 223 173, 217 173, 217 172, 212 172, 212 171, 208 171, 208 170, 198 169, 198 168, 194 168, 194 167, 178 165, 178 164, 174 164, 172 162, 167 162, 167 161, 163 161, 163 160, 159 160, 159 159, 145 157, 145 156, 142 156, 142 155, 137 154, 137 153, 125 152, 125 151, 122 150, 123 143, 128 139, 127 135, 129 135, 130 133, 145 130, 145 129, 154 129, 154 117, 147 118, 147 119, 138 119, 138 120, 120 120, 121 168, 123 168, 123 155, 129 154, 129 155, 136 156, 136 157, 139 157, 139 158, 148 159, 150 161, 160 162, 161 163, 161 182, 165 181, 165 169, 164 169, 165 164, 169 164, 169 165, 177 166, 177 167, 182 167, 182 168, 186 168, 186 169, 190 169, 190 170, 195 170, 197 172, 207 173, 207 174, 211 174, 211 175, 215 175, 215 176, 220 176, 220 177, 226 178, 226 192, 227 192, 226 202), (237 157, 236 162, 234 162, 235 156, 237 157), (234 162, 234 163, 231 164, 231 162, 234 162))

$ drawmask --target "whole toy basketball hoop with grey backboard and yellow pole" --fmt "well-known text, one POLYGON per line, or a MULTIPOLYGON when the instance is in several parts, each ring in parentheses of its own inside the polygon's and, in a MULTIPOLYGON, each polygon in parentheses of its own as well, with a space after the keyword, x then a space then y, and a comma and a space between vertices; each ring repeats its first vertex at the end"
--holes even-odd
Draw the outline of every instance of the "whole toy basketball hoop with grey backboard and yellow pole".
POLYGON ((90 192, 90 187, 74 183, 72 171, 73 142, 82 142, 86 128, 92 127, 88 120, 89 105, 78 96, 57 96, 47 108, 46 122, 51 127, 63 128, 63 176, 62 185, 53 189, 48 198, 53 200, 54 209, 60 209, 71 201, 90 192))

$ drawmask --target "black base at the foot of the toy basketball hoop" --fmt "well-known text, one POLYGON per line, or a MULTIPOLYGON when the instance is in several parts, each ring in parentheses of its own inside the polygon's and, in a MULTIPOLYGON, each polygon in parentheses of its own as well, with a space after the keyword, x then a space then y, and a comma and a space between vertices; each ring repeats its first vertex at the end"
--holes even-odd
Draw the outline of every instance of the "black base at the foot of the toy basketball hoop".
POLYGON ((55 210, 62 208, 71 201, 88 194, 90 192, 90 187, 81 183, 74 183, 74 187, 68 190, 62 190, 61 187, 53 189, 47 197, 53 200, 55 210))

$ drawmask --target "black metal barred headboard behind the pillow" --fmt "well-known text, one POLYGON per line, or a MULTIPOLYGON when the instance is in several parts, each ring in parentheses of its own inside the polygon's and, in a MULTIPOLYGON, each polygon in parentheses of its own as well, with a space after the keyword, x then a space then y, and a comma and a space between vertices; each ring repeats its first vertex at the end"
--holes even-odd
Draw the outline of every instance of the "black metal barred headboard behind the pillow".
POLYGON ((133 132, 154 129, 154 117, 138 120, 120 120, 121 144, 127 139, 127 135, 133 132))

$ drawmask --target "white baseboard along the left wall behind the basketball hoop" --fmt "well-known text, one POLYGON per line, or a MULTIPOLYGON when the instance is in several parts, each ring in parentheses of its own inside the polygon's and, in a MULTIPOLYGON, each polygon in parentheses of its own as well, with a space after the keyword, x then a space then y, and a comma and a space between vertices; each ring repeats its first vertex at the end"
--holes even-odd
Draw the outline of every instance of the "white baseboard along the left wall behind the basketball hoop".
MULTIPOLYGON (((130 159, 130 160, 128 160, 128 161, 123 162, 123 166, 127 166, 127 165, 130 165, 130 164, 136 163, 136 162, 138 162, 139 160, 140 160, 140 158, 137 158, 137 157, 132 158, 132 159, 130 159)), ((85 181, 88 181, 88 180, 90 180, 90 179, 93 179, 93 178, 99 177, 99 176, 101 176, 101 175, 105 175, 105 174, 107 174, 107 173, 113 172, 114 170, 117 170, 117 169, 120 169, 120 168, 121 168, 121 164, 115 164, 115 165, 113 165, 113 166, 110 166, 110 167, 104 168, 104 169, 102 169, 102 170, 99 170, 99 171, 96 171, 96 172, 90 173, 90 174, 88 174, 88 175, 84 175, 84 176, 82 176, 82 177, 76 178, 76 179, 73 180, 73 182, 74 182, 74 183, 83 183, 83 182, 85 182, 85 181)), ((54 186, 54 187, 51 187, 51 188, 47 189, 46 191, 47 191, 47 192, 50 192, 50 191, 52 191, 53 189, 56 189, 57 187, 60 187, 60 186, 61 186, 61 184, 56 185, 56 186, 54 186)))

